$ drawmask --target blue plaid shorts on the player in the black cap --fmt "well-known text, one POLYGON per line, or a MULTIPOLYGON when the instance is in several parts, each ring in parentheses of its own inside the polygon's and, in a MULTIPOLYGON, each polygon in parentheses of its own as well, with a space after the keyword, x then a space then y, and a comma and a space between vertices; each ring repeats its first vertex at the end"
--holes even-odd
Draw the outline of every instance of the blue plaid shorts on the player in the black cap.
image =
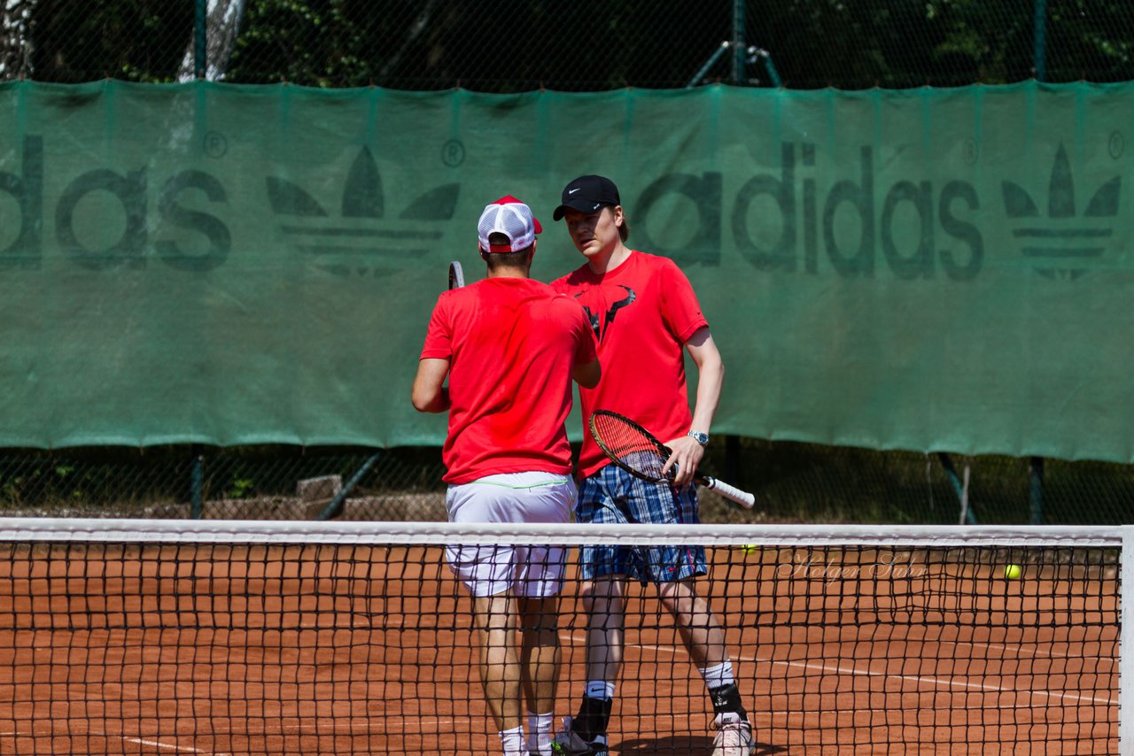
MULTIPOLYGON (((668 483, 648 483, 617 465, 607 465, 579 483, 575 519, 601 525, 699 523, 696 486, 677 490, 668 483)), ((579 575, 584 580, 626 575, 642 583, 668 583, 706 571, 702 546, 579 549, 579 575)))

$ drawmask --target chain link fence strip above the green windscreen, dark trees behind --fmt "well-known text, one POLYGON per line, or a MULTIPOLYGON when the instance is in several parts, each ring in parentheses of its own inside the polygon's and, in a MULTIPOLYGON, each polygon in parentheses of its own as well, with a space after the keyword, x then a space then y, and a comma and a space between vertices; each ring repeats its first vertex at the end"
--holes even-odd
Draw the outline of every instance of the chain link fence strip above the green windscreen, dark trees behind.
POLYGON ((518 92, 1134 78, 1125 0, 6 0, 0 78, 518 92))

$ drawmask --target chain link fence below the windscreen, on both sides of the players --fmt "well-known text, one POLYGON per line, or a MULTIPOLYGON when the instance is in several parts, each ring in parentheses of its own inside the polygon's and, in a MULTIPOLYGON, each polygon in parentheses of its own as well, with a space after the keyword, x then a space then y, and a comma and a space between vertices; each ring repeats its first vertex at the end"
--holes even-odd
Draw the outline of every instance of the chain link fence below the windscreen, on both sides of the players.
MULTIPOLYGON (((703 467, 758 498, 702 492, 705 521, 1128 523, 1134 468, 716 439, 703 467)), ((443 520, 439 450, 66 449, 0 455, 0 516, 443 520)))

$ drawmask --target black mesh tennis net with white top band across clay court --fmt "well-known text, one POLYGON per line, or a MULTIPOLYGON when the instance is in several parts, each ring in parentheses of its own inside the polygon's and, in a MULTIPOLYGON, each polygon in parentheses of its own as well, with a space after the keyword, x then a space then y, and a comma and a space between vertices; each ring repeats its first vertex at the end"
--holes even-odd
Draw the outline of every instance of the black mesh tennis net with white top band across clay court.
MULTIPOLYGON (((1131 753, 1131 533, 0 519, 0 753, 499 753, 445 544, 549 543, 557 717, 585 685, 574 546, 700 544, 756 753, 1131 753)), ((627 594, 611 751, 708 756, 704 682, 627 594)))

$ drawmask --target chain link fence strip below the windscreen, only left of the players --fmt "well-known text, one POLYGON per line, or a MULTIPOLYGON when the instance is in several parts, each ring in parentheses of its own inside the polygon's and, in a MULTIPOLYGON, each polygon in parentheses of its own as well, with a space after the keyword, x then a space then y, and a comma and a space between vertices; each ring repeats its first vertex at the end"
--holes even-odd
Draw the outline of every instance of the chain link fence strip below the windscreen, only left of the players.
POLYGON ((445 519, 437 449, 178 445, 0 455, 0 513, 445 519))

